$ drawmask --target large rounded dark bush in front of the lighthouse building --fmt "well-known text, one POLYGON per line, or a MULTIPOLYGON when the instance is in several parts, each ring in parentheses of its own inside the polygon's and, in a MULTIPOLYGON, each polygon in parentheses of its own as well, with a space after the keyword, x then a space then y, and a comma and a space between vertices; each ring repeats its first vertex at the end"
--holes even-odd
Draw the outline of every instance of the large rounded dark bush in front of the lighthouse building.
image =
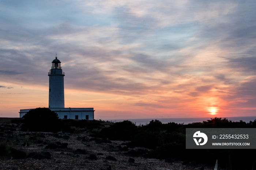
POLYGON ((27 112, 22 120, 22 131, 57 132, 59 116, 49 108, 36 108, 27 112))

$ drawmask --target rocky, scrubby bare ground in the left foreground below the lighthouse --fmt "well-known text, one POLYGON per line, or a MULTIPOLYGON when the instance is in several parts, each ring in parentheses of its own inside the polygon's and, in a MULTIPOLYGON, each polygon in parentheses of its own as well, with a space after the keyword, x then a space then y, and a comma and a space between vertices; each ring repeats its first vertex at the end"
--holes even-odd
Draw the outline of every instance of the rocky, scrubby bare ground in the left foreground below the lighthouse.
POLYGON ((87 132, 20 132, 14 130, 15 125, 8 126, 0 137, 11 153, 11 156, 0 157, 0 169, 4 170, 214 169, 193 162, 182 165, 179 161, 145 158, 143 155, 149 151, 146 148, 131 147, 128 141, 94 138, 87 132))

